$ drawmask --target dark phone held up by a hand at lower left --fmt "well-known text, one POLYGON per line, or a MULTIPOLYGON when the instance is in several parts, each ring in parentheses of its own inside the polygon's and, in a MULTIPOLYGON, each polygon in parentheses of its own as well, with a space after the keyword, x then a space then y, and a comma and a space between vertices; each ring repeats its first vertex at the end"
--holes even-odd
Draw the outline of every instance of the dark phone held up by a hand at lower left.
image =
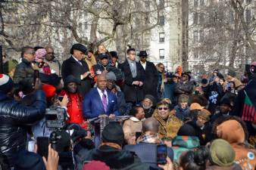
POLYGON ((48 158, 49 138, 48 137, 37 137, 36 144, 37 144, 37 153, 40 156, 45 156, 45 159, 47 159, 48 158))

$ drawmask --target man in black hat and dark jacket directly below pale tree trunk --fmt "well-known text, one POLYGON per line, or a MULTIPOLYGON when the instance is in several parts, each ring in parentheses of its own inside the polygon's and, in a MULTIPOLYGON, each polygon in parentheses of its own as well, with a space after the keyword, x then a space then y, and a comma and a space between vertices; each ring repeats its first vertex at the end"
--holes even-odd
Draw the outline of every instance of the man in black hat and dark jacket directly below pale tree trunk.
POLYGON ((178 82, 175 88, 176 95, 180 94, 192 94, 194 83, 190 82, 191 76, 189 73, 183 73, 181 81, 178 82))

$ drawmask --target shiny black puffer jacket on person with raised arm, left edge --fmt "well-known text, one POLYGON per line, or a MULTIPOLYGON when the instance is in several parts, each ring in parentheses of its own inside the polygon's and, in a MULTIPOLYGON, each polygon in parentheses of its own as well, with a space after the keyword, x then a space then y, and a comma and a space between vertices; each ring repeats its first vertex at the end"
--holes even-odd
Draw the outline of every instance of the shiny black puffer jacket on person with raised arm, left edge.
POLYGON ((14 154, 26 149, 27 128, 24 126, 32 125, 45 115, 45 94, 36 91, 35 95, 35 102, 30 107, 24 107, 0 93, 0 149, 8 156, 11 165, 14 154))

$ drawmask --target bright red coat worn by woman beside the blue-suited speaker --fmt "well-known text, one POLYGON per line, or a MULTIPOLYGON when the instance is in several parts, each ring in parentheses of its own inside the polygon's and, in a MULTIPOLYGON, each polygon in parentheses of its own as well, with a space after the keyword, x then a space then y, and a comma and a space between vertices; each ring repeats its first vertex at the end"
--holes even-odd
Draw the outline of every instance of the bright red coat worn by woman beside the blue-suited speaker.
POLYGON ((67 94, 68 97, 67 113, 69 115, 69 119, 67 120, 67 123, 76 123, 82 128, 87 129, 87 122, 83 117, 82 97, 78 93, 72 94, 67 93, 66 91, 61 91, 59 96, 64 96, 65 94, 67 94))

